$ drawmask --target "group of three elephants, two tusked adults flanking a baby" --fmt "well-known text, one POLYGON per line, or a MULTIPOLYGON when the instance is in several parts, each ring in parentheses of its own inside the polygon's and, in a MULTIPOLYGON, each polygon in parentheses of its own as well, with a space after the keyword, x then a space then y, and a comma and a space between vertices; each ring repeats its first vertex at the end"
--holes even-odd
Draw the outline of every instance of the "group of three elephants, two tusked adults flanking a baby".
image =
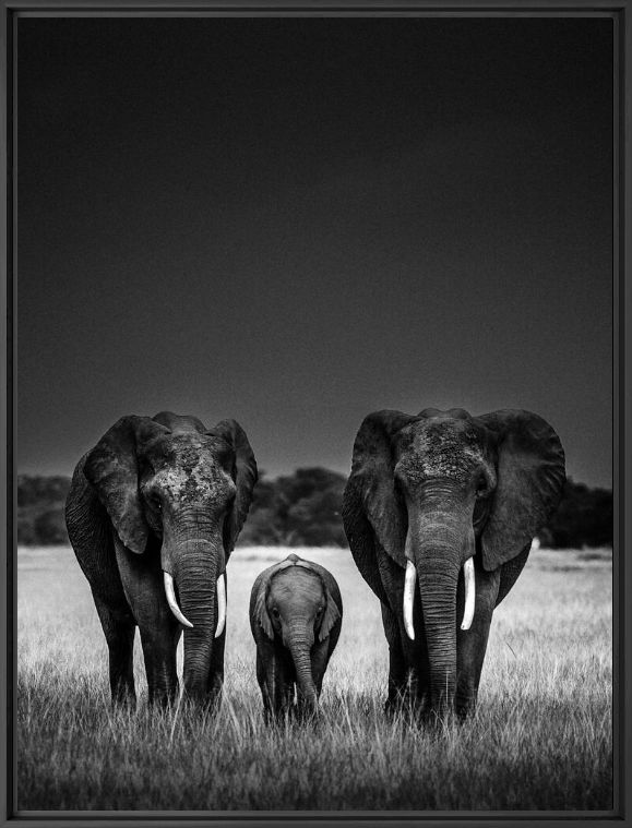
MULTIPOLYGON (((558 435, 528 411, 365 418, 343 521, 380 600, 387 711, 406 706, 436 720, 474 709, 493 610, 564 480, 558 435)), ((150 703, 178 698, 182 629, 183 692, 218 703, 226 565, 255 482, 254 455, 235 420, 207 429, 167 411, 121 418, 79 461, 65 519, 107 640, 114 703, 135 701, 136 626, 150 703)), ((266 718, 317 711, 342 620, 338 585, 324 567, 291 554, 258 576, 250 625, 266 718)))

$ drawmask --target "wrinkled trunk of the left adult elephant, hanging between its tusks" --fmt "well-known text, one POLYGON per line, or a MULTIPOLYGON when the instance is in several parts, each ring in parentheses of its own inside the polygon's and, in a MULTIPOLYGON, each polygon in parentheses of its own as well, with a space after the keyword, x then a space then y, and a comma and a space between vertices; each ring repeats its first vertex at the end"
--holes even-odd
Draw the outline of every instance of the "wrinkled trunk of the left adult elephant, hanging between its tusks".
POLYGON ((213 645, 216 633, 224 625, 226 599, 224 587, 224 548, 219 537, 180 540, 163 548, 163 568, 167 601, 171 611, 184 626, 184 693, 204 699, 208 692, 213 645), (171 584, 177 588, 177 598, 171 584), (174 608, 171 601, 176 601, 174 608), (223 607, 222 607, 223 604, 223 607))

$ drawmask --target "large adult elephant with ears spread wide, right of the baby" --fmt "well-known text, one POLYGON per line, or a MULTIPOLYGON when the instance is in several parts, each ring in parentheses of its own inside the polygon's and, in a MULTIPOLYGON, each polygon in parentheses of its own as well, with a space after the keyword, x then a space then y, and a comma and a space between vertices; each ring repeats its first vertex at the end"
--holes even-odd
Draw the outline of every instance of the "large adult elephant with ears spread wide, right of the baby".
POLYGON ((365 419, 343 519, 356 565, 382 602, 386 709, 474 709, 492 612, 564 479, 558 435, 529 411, 426 408, 365 419))

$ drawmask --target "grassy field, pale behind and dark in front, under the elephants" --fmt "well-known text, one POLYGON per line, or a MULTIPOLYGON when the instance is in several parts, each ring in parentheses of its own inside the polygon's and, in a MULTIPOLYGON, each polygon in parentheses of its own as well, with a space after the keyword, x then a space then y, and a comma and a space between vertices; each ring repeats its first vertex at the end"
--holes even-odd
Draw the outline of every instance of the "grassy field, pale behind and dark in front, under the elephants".
MULTIPOLYGON (((379 603, 346 550, 297 550, 338 579, 345 617, 323 720, 267 728, 248 597, 287 549, 228 566, 215 718, 112 712, 107 648, 68 548, 19 551, 17 805, 32 809, 607 811, 612 807, 611 553, 533 552, 497 610, 479 707, 427 732, 382 715, 379 603)), ((146 687, 136 637, 136 687, 146 687)), ((181 658, 181 656, 180 656, 181 658)))

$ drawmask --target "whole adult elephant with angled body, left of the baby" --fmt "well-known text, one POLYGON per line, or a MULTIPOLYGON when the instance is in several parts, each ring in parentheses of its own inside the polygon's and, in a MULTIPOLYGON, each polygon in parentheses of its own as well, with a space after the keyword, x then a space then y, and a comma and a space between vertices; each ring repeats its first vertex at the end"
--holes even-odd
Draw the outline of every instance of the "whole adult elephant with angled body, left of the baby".
POLYGON ((235 420, 206 429, 170 411, 122 417, 76 465, 65 521, 108 645, 112 704, 135 705, 136 626, 151 705, 178 698, 182 628, 184 696, 218 703, 226 563, 257 476, 235 420))

